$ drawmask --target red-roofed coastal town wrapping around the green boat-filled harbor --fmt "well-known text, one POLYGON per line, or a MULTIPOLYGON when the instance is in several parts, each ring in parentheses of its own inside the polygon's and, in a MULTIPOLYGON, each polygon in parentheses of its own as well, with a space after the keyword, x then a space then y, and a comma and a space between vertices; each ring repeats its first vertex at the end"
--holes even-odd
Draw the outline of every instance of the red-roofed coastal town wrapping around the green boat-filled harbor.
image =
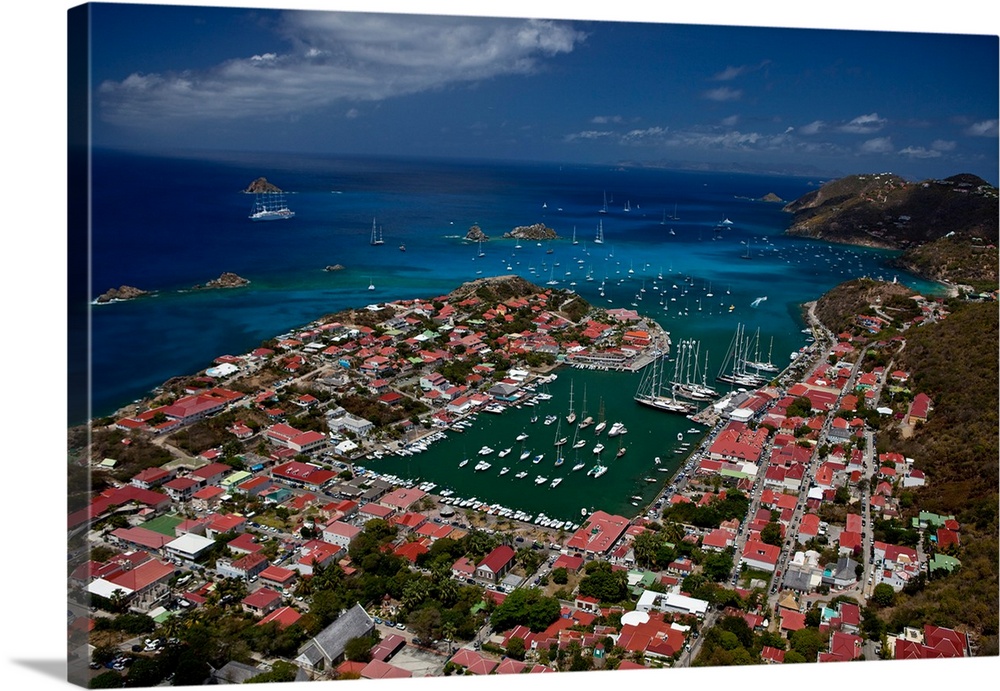
POLYGON ((94 420, 71 449, 94 492, 68 518, 70 664, 112 686, 975 653, 878 617, 962 568, 955 516, 914 510, 920 459, 877 439, 934 415, 894 361, 943 300, 839 333, 811 303, 786 369, 689 399, 700 441, 653 502, 555 520, 366 463, 533 405, 560 367, 645 373, 682 348, 571 292, 463 288, 329 315, 94 420))

